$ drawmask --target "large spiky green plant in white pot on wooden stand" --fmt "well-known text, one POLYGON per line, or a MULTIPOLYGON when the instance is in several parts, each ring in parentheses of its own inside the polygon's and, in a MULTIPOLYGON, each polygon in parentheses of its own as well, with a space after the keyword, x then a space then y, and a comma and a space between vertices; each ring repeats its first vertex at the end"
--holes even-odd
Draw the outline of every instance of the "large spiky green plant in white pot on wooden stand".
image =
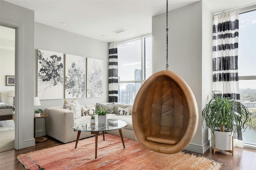
POLYGON ((244 132, 250 121, 250 113, 243 104, 234 98, 222 97, 216 91, 208 96, 208 103, 202 110, 202 125, 214 135, 214 153, 215 149, 233 150, 232 132, 244 132))

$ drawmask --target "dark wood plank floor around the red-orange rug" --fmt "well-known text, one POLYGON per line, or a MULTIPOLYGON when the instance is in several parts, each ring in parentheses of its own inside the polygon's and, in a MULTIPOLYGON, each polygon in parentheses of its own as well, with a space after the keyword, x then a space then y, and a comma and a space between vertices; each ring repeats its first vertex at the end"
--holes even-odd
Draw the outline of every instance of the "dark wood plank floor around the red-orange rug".
MULTIPOLYGON (((20 164, 20 162, 17 160, 17 156, 19 154, 62 144, 63 143, 60 141, 48 137, 47 141, 36 143, 36 146, 34 147, 1 152, 0 170, 25 170, 22 164, 20 164)), ((217 162, 225 164, 221 166, 220 170, 256 170, 256 150, 235 147, 234 156, 232 156, 232 154, 225 151, 218 151, 216 154, 213 154, 213 151, 210 148, 203 155, 217 162)))

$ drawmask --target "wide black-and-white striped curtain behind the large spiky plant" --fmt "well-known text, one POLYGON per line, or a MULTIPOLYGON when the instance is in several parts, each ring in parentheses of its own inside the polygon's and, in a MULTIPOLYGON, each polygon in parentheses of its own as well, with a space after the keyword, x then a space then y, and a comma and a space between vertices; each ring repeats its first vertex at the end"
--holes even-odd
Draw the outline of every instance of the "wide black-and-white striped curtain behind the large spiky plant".
POLYGON ((238 15, 238 11, 232 11, 214 16, 213 90, 239 100, 238 15))

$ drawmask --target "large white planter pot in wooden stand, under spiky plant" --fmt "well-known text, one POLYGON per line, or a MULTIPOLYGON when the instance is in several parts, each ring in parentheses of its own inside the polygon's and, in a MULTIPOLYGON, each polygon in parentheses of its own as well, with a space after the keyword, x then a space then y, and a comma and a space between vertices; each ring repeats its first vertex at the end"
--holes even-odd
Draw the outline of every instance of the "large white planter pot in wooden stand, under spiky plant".
POLYGON ((214 131, 215 148, 220 150, 232 150, 232 136, 231 132, 214 131))

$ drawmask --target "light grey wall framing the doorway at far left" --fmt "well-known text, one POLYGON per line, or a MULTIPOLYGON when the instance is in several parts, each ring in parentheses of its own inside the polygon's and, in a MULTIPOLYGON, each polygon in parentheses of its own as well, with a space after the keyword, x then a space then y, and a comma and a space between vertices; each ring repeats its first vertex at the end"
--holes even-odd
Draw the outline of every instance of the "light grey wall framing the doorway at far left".
POLYGON ((15 149, 35 145, 34 139, 34 11, 0 1, 0 21, 18 27, 15 70, 15 149))

